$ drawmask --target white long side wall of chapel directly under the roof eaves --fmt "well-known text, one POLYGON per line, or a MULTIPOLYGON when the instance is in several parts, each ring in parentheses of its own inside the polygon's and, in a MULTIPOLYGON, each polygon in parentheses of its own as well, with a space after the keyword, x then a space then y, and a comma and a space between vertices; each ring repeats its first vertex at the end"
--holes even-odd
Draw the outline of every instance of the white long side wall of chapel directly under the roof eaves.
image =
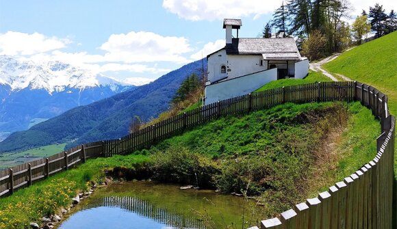
POLYGON ((230 69, 227 71, 229 79, 266 70, 268 64, 264 62, 263 66, 260 66, 261 59, 263 59, 262 55, 227 55, 227 66, 230 69))

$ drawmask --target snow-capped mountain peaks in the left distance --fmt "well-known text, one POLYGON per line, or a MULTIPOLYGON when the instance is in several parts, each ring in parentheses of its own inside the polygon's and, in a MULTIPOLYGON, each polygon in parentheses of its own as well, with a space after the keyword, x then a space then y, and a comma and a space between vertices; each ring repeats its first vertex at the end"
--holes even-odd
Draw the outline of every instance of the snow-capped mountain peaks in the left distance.
POLYGON ((37 64, 29 60, 18 61, 7 55, 0 56, 0 84, 10 85, 13 91, 29 87, 32 90, 44 89, 50 94, 62 92, 68 87, 83 90, 99 86, 109 86, 117 92, 120 86, 131 85, 62 62, 37 64))

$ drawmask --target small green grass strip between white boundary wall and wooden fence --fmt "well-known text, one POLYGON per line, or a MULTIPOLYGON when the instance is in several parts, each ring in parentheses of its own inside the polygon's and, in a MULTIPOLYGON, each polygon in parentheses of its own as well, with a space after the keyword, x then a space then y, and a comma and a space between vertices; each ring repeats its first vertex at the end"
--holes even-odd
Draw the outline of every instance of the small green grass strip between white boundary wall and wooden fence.
POLYGON ((266 83, 262 87, 260 87, 255 92, 261 92, 264 90, 276 88, 276 87, 283 87, 283 86, 293 86, 303 83, 317 83, 317 82, 326 82, 331 81, 328 77, 322 75, 321 72, 313 72, 309 71, 309 75, 304 79, 279 79, 277 81, 271 81, 270 83, 266 83))

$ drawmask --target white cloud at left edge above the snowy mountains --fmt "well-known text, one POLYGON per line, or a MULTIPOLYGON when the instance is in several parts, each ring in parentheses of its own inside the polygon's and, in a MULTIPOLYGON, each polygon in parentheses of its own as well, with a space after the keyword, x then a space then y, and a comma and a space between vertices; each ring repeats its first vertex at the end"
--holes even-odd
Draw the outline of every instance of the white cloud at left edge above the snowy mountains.
POLYGON ((71 40, 47 37, 40 33, 8 31, 0 33, 0 55, 34 55, 62 49, 71 40))

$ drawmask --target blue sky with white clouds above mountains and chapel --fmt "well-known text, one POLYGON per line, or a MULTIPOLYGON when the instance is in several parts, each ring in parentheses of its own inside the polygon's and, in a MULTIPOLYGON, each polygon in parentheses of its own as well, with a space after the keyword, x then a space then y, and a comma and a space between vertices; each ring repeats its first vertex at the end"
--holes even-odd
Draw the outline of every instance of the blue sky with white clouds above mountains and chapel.
MULTIPOLYGON (((359 14, 374 2, 350 1, 359 14)), ((383 0, 387 10, 397 1, 383 0)), ((60 60, 120 81, 144 82, 220 49, 223 18, 256 37, 281 0, 0 0, 0 55, 60 60)))

